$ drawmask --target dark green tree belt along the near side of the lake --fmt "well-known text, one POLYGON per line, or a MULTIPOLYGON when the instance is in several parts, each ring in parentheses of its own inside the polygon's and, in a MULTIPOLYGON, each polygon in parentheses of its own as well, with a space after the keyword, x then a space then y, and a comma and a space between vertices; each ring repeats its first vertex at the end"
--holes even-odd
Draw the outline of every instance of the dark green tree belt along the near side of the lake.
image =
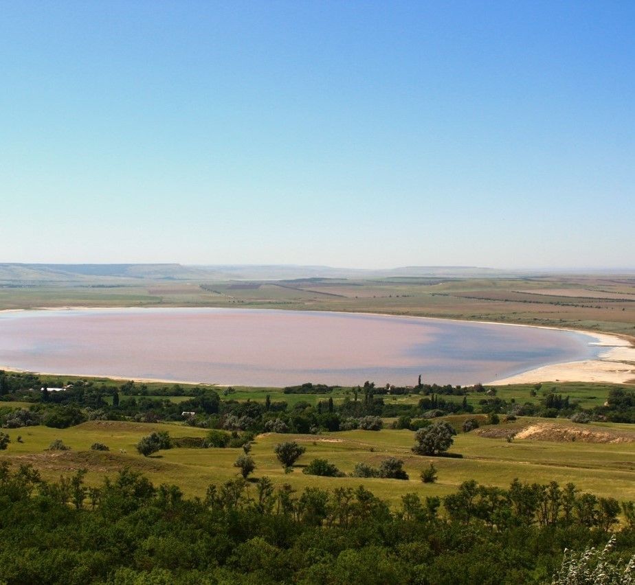
MULTIPOLYGON (((555 387, 548 389, 542 385, 531 389, 528 398, 533 400, 522 402, 514 398, 504 400, 497 395, 495 388, 485 388, 480 384, 469 387, 435 384, 375 387, 372 382, 365 382, 363 387, 346 389, 344 400, 335 403, 328 395, 335 387, 307 382, 284 389, 282 396, 300 394, 309 398, 308 395, 313 395, 311 400, 317 398, 317 402, 300 400, 291 406, 284 400, 271 400, 271 395, 267 395, 264 402, 235 400, 233 388, 223 389, 221 398, 218 388, 202 385, 153 387, 153 395, 150 395, 146 385, 132 381, 118 384, 112 380, 74 380, 69 385, 64 385, 63 380, 53 382, 63 389, 54 390, 53 385, 49 387, 36 374, 0 371, 0 426, 20 428, 44 424, 66 428, 96 419, 161 420, 184 421, 192 426, 230 433, 319 433, 355 428, 379 431, 383 426, 382 417, 394 417, 397 419, 394 428, 418 431, 429 426, 436 417, 474 412, 488 415, 489 424, 496 424, 500 415, 506 415, 507 420, 519 415, 537 415, 568 417, 580 423, 592 420, 635 422, 635 392, 619 387, 610 390, 602 406, 583 410, 579 401, 557 393, 555 387), (416 403, 388 399, 405 394, 420 398, 416 403), (183 396, 186 400, 177 403, 170 400, 170 396, 183 396), (476 397, 478 400, 475 400, 476 397), (3 409, 3 400, 21 400, 31 406, 3 409)), ((476 428, 478 422, 473 418, 465 432, 469 432, 470 425, 476 428)))

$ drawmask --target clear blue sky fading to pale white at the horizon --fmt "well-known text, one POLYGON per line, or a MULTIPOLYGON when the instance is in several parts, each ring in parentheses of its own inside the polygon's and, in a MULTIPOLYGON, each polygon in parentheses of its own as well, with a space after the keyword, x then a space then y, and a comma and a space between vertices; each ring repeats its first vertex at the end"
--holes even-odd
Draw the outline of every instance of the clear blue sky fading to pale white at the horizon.
POLYGON ((635 266, 635 2, 0 1, 0 262, 635 266))

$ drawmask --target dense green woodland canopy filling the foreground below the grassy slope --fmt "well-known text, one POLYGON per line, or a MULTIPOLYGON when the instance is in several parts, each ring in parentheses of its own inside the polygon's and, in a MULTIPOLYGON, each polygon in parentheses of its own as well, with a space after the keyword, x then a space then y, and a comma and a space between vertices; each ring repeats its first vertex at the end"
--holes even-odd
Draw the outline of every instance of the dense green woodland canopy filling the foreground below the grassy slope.
MULTIPOLYGON (((297 493, 238 477, 187 499, 130 470, 99 488, 83 478, 47 483, 0 464, 0 582, 544 583, 564 549, 603 548, 619 512, 611 498, 555 483, 466 482, 443 501, 408 494, 391 510, 361 486, 297 493)), ((604 562, 634 551, 630 523, 604 562)))

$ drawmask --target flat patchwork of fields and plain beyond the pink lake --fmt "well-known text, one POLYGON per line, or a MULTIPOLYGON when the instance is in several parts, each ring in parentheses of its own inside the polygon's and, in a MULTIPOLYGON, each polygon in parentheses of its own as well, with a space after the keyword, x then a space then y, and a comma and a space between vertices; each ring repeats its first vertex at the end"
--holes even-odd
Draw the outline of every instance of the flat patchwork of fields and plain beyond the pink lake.
MULTIPOLYGON (((102 282, 102 281, 95 281, 102 282)), ((112 284, 0 282, 0 308, 209 306, 381 312, 635 335, 635 277, 392 277, 112 284)))

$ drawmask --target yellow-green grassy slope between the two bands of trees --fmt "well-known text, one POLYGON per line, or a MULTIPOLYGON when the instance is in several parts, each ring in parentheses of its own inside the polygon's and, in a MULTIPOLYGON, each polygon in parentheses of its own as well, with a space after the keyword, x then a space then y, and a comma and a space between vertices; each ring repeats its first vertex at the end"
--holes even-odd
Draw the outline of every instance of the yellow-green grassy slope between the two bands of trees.
MULTIPOLYGON (((460 417, 450 421, 460 423, 460 417)), ((113 474, 124 466, 148 474, 156 484, 177 483, 188 495, 202 496, 210 483, 236 477, 233 463, 241 454, 239 448, 172 448, 152 457, 142 457, 135 445, 152 431, 169 431, 170 436, 203 437, 205 430, 182 424, 143 424, 132 422, 93 421, 67 429, 34 426, 9 430, 12 443, 0 452, 0 460, 30 463, 41 470, 43 477, 57 479, 79 468, 89 470, 88 483, 98 483, 104 474, 113 474), (16 441, 21 435, 23 443, 16 441), (54 439, 62 439, 69 451, 45 451, 54 439), (89 450, 93 442, 110 447, 109 452, 89 450), (123 451, 123 452, 122 452, 123 451)), ((538 435, 535 435, 538 436, 538 435)), ((603 439, 602 439, 603 440, 603 439)), ((455 437, 451 453, 462 458, 421 457, 413 455, 412 431, 346 431, 322 435, 260 435, 253 444, 256 462, 255 477, 266 475, 276 485, 289 483, 296 490, 307 486, 336 488, 363 484, 381 498, 397 505, 403 494, 416 492, 421 496, 454 492, 468 479, 487 485, 506 487, 514 479, 529 483, 572 482, 581 490, 599 496, 621 500, 635 499, 635 429, 629 425, 575 425, 564 420, 519 418, 509 424, 481 427, 477 432, 460 433, 455 437), (556 426, 546 437, 515 438, 508 442, 506 434, 540 425, 556 426), (620 442, 588 442, 571 440, 565 432, 590 431, 592 435, 608 436, 606 440, 620 442), (483 431, 480 433, 480 431, 483 431), (487 431, 485 433, 484 431, 487 431), (488 436, 493 438, 489 438, 488 436), (274 455, 274 446, 281 441, 296 440, 307 448, 293 473, 285 474, 274 455), (359 479, 353 477, 326 478, 303 474, 302 466, 312 459, 328 459, 342 471, 350 473, 355 463, 363 461, 377 465, 386 457, 398 457, 405 462, 409 481, 392 479, 359 479), (438 482, 423 484, 421 470, 430 462, 438 469, 438 482)))

